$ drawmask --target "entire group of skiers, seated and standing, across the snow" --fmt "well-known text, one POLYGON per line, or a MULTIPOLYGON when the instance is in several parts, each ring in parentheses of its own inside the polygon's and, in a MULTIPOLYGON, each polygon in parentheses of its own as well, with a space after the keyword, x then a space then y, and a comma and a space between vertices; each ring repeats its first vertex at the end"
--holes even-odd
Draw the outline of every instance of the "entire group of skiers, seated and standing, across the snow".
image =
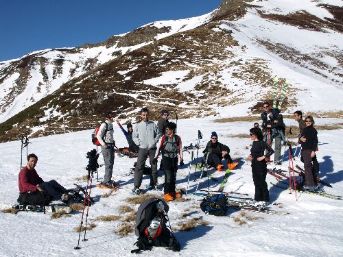
MULTIPOLYGON (((161 166, 165 172, 164 194, 165 200, 172 201, 180 197, 176 193, 176 173, 179 166, 184 165, 182 154, 182 140, 176 134, 176 123, 169 122, 169 112, 161 111, 161 117, 157 125, 149 120, 149 110, 143 108, 140 111, 141 121, 135 126, 128 123, 127 129, 124 130, 119 121, 117 121, 123 134, 126 136, 130 151, 137 152, 137 165, 134 171, 134 187, 132 193, 139 195, 141 193, 141 184, 143 180, 143 171, 147 158, 150 161, 151 174, 150 184, 147 189, 159 190, 157 175, 158 156, 161 154, 161 166)), ((106 114, 106 120, 99 127, 97 139, 101 145, 102 155, 105 162, 104 180, 99 187, 113 188, 117 183, 112 180, 113 164, 115 160, 115 140, 113 138, 113 121, 115 117, 113 112, 106 114)), ((275 164, 280 163, 281 141, 285 141, 285 123, 279 110, 270 108, 269 103, 263 104, 263 113, 261 114, 262 129, 259 123, 255 123, 250 129, 250 138, 253 140, 248 159, 251 160, 252 178, 255 185, 255 201, 270 201, 268 185, 265 182, 267 174, 266 159, 274 154, 275 164), (275 150, 271 147, 272 140, 275 139, 275 150)), ((303 114, 300 111, 294 112, 294 119, 299 123, 298 143, 301 144, 301 160, 305 167, 305 185, 303 190, 314 191, 317 186, 317 176, 319 164, 316 159, 318 150, 317 131, 313 127, 314 119, 311 116, 303 120, 303 114)), ((203 151, 204 158, 202 165, 215 167, 221 170, 223 167, 222 160, 226 161, 229 169, 233 169, 238 163, 233 162, 230 157, 230 148, 218 141, 216 132, 211 133, 211 139, 206 144, 203 151)), ((68 201, 67 190, 58 184, 55 180, 44 182, 36 173, 34 167, 38 157, 34 154, 27 156, 27 166, 21 169, 19 173, 19 191, 21 197, 36 195, 39 192, 46 192, 48 199, 68 201)), ((19 201, 20 202, 20 201, 19 201)))

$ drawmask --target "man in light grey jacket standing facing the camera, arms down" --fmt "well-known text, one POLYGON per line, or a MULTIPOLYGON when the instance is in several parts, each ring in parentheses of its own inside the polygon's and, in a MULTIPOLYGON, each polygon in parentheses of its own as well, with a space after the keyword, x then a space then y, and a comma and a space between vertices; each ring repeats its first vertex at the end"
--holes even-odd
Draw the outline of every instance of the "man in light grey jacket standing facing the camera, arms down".
POLYGON ((154 189, 158 189, 157 183, 157 165, 153 163, 154 156, 156 154, 156 144, 159 140, 159 132, 155 123, 149 121, 149 110, 143 108, 140 112, 142 121, 134 126, 132 133, 132 139, 134 143, 139 147, 136 170, 134 172, 134 188, 132 193, 139 195, 141 190, 139 189, 143 179, 143 169, 147 155, 150 158, 150 165, 152 168, 152 176, 150 176, 150 186, 154 189))

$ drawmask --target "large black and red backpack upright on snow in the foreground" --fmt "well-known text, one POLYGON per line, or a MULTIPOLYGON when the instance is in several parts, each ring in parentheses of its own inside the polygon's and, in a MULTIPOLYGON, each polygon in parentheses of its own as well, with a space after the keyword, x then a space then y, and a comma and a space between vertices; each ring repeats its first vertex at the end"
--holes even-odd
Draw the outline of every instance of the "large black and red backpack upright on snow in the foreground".
POLYGON ((170 226, 167 226, 169 206, 163 199, 150 198, 142 202, 137 210, 135 234, 138 237, 138 249, 131 253, 139 253, 154 246, 162 246, 173 252, 180 251, 180 243, 176 240, 170 226))

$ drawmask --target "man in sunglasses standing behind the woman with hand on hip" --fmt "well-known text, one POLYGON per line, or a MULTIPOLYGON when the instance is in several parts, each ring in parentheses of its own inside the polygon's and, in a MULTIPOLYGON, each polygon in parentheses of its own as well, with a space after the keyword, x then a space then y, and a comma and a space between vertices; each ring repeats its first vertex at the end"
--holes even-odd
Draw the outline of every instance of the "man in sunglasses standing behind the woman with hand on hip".
POLYGON ((263 112, 261 113, 262 129, 265 132, 265 141, 268 140, 268 130, 270 130, 270 141, 273 143, 275 138, 275 155, 274 163, 281 165, 281 140, 284 145, 285 139, 285 123, 283 123, 283 116, 278 108, 270 108, 268 102, 263 103, 263 112))

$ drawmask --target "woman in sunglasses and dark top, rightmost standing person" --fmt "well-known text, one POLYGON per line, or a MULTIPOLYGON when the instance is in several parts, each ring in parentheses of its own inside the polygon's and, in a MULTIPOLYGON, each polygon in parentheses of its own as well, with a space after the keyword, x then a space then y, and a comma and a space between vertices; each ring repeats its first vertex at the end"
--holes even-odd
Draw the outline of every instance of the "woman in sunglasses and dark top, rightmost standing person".
MULTIPOLYGON (((316 150, 318 147, 318 136, 317 130, 314 128, 314 118, 307 116, 305 118, 306 127, 301 133, 301 155, 304 161, 305 169, 305 186, 303 186, 304 191, 317 191, 316 188, 316 175, 314 174, 312 158, 316 156, 316 150)), ((319 164, 318 164, 319 170, 319 164)))

